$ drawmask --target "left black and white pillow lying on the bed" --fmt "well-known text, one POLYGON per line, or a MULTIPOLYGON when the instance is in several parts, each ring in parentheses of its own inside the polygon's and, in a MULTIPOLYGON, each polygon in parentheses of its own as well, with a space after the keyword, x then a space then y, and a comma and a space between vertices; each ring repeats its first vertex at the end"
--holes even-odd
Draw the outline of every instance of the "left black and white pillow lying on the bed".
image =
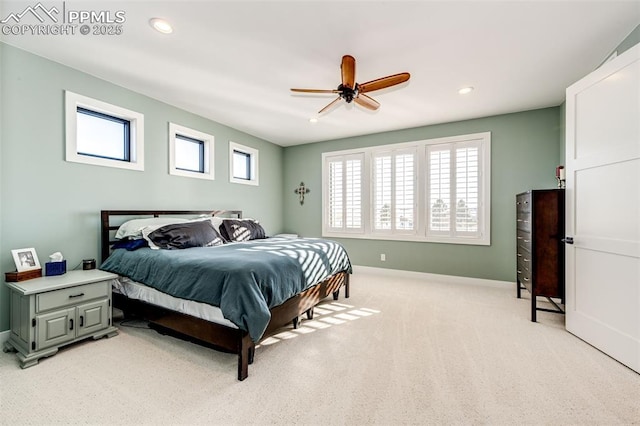
POLYGON ((224 240, 208 220, 176 223, 150 231, 143 229, 142 236, 151 248, 185 249, 224 244, 224 240))

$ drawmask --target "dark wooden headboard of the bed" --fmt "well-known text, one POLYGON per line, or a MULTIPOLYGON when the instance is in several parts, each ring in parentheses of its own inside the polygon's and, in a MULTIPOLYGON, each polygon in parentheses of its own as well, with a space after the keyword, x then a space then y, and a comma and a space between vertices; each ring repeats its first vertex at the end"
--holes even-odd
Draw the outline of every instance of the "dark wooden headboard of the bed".
POLYGON ((102 262, 109 257, 111 246, 116 242, 111 237, 120 225, 130 219, 160 216, 222 216, 242 218, 242 210, 101 210, 100 211, 100 249, 102 262), (120 220, 116 220, 120 218, 120 220), (112 220, 113 219, 113 220, 112 220))

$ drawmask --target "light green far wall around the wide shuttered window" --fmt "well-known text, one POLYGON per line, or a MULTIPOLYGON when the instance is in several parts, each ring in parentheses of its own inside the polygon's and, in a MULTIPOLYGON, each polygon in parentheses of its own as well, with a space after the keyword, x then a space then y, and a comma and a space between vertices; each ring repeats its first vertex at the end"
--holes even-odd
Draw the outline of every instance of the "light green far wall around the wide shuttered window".
POLYGON ((485 131, 491 132, 491 246, 339 241, 356 265, 514 281, 515 195, 532 188, 556 187, 561 135, 558 107, 287 147, 285 231, 307 237, 322 233, 323 152, 485 131), (311 188, 302 206, 293 193, 300 181, 311 188), (380 261, 380 253, 386 254, 385 262, 380 261))

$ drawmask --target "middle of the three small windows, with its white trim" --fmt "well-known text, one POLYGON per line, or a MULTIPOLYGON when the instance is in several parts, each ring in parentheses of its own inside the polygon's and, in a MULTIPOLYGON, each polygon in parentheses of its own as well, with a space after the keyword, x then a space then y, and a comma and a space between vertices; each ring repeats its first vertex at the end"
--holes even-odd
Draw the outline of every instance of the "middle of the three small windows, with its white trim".
POLYGON ((169 173, 197 179, 215 179, 214 137, 169 123, 169 173))

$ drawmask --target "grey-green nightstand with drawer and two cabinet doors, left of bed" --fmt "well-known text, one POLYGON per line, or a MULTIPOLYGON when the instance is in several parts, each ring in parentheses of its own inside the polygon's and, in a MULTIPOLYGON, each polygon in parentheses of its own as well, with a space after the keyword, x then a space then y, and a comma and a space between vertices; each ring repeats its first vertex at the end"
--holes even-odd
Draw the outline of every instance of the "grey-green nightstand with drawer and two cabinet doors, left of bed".
POLYGON ((62 346, 115 336, 111 282, 116 274, 92 269, 6 283, 11 331, 4 351, 17 352, 20 367, 55 355, 62 346))

